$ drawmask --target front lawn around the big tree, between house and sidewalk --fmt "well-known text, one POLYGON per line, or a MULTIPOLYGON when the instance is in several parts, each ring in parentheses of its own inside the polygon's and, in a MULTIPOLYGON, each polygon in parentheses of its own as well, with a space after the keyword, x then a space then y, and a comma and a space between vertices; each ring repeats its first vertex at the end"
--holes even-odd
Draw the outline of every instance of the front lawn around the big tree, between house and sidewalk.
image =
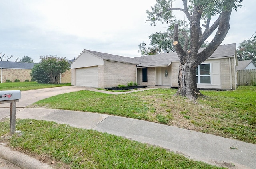
POLYGON ((40 100, 32 107, 112 114, 256 143, 256 86, 201 92, 208 97, 194 104, 174 96, 176 89, 118 95, 83 90, 40 100))

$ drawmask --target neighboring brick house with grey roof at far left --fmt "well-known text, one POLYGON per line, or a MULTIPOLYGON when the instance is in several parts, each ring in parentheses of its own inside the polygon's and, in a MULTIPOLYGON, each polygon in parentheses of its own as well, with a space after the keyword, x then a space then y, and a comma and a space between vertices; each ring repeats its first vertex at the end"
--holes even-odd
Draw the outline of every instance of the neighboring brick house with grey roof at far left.
POLYGON ((23 62, 9 62, 0 61, 1 69, 1 83, 6 82, 7 79, 12 82, 19 79, 20 82, 25 80, 31 81, 30 72, 36 63, 23 63, 23 62))

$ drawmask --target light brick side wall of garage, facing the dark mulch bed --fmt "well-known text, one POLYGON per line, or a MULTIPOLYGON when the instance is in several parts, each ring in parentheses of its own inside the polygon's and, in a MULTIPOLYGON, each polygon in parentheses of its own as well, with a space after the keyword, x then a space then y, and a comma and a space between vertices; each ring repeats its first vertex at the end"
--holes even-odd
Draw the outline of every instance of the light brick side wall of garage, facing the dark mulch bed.
MULTIPOLYGON (((99 70, 99 83, 100 83, 99 70)), ((136 82, 136 65, 129 63, 118 63, 104 61, 104 87, 117 87, 117 85, 127 85, 127 82, 136 82)))

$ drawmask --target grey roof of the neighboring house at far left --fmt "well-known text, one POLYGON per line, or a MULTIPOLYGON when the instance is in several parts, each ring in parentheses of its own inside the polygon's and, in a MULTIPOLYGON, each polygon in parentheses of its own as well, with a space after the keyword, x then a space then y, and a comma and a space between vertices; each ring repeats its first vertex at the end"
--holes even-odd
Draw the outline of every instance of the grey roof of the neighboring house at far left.
POLYGON ((6 69, 33 69, 37 63, 0 61, 0 68, 6 69))

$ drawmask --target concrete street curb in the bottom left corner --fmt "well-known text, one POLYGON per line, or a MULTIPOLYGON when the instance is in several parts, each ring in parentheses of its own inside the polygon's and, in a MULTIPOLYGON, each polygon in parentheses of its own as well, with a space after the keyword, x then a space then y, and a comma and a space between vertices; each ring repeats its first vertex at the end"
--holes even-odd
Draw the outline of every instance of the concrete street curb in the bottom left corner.
POLYGON ((22 169, 53 169, 46 163, 34 159, 24 153, 14 151, 0 143, 0 157, 22 169))

